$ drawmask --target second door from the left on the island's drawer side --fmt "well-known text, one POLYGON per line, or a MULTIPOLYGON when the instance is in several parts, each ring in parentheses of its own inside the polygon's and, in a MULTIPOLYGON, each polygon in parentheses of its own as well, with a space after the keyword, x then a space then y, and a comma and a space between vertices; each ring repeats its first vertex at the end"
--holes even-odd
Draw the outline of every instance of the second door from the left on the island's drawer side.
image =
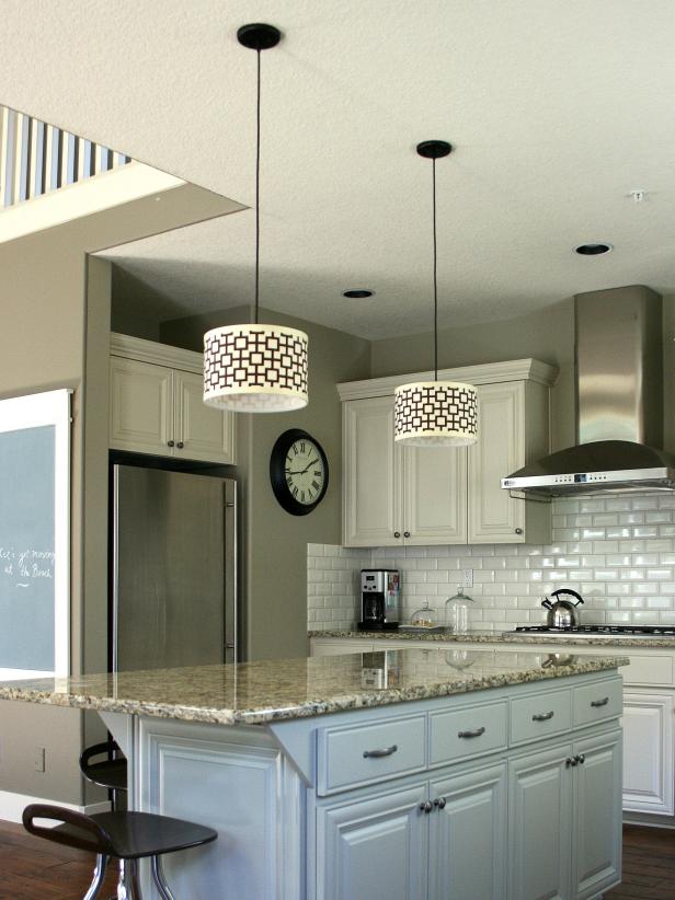
POLYGON ((506 897, 506 763, 431 783, 430 897, 506 897))

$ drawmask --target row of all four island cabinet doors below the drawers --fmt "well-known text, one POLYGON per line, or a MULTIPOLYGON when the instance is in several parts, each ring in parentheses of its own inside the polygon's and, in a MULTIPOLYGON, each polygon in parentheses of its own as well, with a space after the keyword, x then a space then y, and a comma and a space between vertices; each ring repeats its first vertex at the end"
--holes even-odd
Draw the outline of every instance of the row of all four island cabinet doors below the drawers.
POLYGON ((317 900, 591 900, 621 868, 621 731, 317 809, 317 900))

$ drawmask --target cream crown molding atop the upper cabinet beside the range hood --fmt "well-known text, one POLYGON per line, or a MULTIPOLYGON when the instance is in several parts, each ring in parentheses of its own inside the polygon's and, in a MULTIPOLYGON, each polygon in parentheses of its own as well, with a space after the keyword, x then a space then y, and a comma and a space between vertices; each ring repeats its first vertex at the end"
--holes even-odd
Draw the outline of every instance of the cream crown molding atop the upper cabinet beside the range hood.
MULTIPOLYGON (((488 362, 482 366, 462 366, 457 369, 439 369, 439 381, 466 381, 468 384, 495 384, 502 381, 534 381, 552 386, 558 368, 539 359, 510 359, 506 362, 488 362)), ((401 384, 412 381, 430 381, 433 372, 369 378, 364 381, 345 381, 338 384, 340 400, 363 400, 369 396, 389 396, 401 384)))

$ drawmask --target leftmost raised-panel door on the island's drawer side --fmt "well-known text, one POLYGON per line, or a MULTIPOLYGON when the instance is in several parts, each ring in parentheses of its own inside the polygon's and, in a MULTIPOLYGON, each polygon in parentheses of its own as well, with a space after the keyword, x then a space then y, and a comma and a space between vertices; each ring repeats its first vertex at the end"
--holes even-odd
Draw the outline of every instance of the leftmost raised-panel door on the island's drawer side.
POLYGON ((426 900, 426 782, 317 810, 317 900, 426 900))

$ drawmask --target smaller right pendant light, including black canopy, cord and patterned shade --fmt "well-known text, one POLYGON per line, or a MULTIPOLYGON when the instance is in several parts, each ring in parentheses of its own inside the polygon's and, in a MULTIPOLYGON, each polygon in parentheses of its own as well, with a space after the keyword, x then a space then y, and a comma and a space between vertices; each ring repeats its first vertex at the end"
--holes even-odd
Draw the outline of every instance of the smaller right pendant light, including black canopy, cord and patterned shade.
POLYGON ((394 395, 394 440, 413 447, 462 447, 478 439, 478 394, 472 384, 438 381, 438 285, 436 252, 436 160, 445 140, 425 140, 417 153, 432 160, 434 220, 434 380, 401 384, 394 395))

